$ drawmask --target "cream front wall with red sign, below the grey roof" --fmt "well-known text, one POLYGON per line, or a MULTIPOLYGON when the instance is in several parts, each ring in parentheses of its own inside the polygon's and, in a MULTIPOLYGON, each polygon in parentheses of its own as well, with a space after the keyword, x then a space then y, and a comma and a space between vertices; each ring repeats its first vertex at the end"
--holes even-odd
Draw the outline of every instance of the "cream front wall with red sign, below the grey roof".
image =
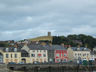
POLYGON ((48 62, 47 50, 30 50, 30 63, 33 62, 48 62))

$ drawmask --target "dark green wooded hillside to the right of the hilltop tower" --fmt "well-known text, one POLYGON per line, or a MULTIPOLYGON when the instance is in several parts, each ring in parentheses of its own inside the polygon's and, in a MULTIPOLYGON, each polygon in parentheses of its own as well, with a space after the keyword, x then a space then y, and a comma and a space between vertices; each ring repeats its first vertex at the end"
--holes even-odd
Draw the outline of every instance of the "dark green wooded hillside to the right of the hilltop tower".
POLYGON ((87 46, 88 48, 93 49, 96 46, 96 38, 84 34, 68 35, 67 37, 53 36, 52 44, 61 44, 61 43, 71 46, 77 46, 77 45, 87 46))

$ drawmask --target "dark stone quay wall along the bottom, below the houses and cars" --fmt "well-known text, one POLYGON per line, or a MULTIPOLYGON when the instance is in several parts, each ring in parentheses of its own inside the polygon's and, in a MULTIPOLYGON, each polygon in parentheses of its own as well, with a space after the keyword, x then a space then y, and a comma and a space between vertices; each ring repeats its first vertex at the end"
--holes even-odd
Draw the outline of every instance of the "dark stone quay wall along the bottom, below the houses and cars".
POLYGON ((96 65, 79 64, 8 64, 7 68, 12 71, 24 72, 93 72, 96 65))

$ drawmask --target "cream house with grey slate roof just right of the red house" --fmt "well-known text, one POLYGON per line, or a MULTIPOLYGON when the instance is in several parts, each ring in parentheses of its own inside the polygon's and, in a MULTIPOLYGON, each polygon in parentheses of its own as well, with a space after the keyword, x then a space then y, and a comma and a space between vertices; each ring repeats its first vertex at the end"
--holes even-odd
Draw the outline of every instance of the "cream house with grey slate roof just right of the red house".
POLYGON ((68 48, 68 58, 70 60, 90 60, 91 53, 88 48, 80 47, 72 47, 68 48))

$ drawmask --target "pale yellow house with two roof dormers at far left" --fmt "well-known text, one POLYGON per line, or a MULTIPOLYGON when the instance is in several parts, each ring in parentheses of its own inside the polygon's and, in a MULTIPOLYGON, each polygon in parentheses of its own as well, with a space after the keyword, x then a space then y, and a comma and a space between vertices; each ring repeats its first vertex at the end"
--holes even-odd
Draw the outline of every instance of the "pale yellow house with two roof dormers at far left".
POLYGON ((9 62, 21 62, 21 52, 18 50, 18 48, 4 48, 3 51, 3 63, 7 64, 9 62))

